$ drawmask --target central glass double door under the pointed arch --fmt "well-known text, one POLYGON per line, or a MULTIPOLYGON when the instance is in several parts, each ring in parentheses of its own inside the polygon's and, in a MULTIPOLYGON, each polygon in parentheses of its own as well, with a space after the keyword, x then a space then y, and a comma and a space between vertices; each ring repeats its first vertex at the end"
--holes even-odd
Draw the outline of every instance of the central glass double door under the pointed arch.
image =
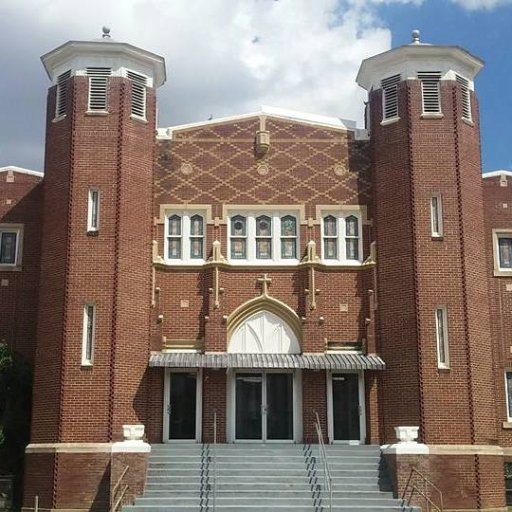
POLYGON ((235 439, 293 440, 293 374, 237 373, 235 439))

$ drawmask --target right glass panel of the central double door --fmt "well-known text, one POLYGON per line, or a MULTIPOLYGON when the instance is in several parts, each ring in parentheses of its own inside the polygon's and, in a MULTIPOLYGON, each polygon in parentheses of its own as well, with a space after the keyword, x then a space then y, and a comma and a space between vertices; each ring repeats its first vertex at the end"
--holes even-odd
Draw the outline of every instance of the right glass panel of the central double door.
POLYGON ((267 439, 293 439, 293 374, 265 376, 267 439))

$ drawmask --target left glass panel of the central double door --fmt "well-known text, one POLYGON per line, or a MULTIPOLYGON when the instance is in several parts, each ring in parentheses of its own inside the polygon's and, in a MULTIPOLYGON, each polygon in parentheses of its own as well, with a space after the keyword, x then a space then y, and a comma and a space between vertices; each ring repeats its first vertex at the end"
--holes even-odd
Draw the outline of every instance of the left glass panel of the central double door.
POLYGON ((262 374, 236 375, 236 439, 262 439, 262 384, 262 374))

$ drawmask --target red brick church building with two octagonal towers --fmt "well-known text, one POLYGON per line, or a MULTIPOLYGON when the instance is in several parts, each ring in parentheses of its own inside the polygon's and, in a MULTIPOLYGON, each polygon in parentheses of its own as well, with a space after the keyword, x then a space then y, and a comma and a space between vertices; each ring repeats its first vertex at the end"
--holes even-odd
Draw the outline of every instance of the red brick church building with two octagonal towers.
POLYGON ((24 510, 141 495, 163 444, 315 444, 317 417, 327 446, 381 447, 395 496, 416 468, 445 510, 506 510, 512 172, 482 176, 479 58, 415 33, 364 60, 364 129, 157 128, 164 59, 107 32, 42 62, 44 175, 0 168, 24 510))

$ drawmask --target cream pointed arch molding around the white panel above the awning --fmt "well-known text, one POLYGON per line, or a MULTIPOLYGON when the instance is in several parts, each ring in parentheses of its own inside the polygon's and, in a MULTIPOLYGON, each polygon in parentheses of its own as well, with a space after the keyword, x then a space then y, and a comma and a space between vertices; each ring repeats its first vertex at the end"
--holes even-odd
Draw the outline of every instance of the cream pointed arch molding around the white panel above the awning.
MULTIPOLYGON (((270 317, 275 316, 278 320, 282 321, 282 329, 286 331, 288 328, 291 331, 290 334, 292 334, 292 338, 295 338, 295 340, 290 340, 290 353, 298 353, 301 351, 302 324, 297 313, 280 300, 269 297, 268 295, 260 295, 259 297, 245 302, 228 316, 228 352, 233 351, 231 345, 233 335, 238 332, 239 328, 242 328, 244 323, 255 318, 258 313, 270 313, 270 317), (294 345, 296 346, 294 347, 294 345)), ((249 323, 247 323, 246 328, 250 328, 249 323)))

